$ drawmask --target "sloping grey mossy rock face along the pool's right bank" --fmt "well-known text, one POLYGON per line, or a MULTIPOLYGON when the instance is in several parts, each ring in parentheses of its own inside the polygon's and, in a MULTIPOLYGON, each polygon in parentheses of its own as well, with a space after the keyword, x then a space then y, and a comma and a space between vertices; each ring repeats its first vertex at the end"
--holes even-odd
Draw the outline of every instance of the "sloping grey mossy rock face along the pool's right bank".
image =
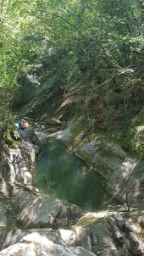
POLYGON ((128 158, 119 145, 99 137, 91 142, 82 142, 79 151, 84 158, 91 159, 100 171, 108 192, 125 203, 126 194, 132 186, 132 198, 135 198, 135 203, 141 203, 144 194, 143 162, 128 158))

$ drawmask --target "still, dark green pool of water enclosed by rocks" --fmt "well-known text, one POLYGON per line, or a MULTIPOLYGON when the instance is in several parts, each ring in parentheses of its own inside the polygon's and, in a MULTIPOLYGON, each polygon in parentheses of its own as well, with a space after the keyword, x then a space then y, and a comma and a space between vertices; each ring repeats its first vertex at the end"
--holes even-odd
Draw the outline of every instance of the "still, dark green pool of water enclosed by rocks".
POLYGON ((36 186, 86 211, 115 205, 102 186, 102 176, 86 170, 84 161, 70 153, 62 142, 51 139, 36 159, 36 186))

